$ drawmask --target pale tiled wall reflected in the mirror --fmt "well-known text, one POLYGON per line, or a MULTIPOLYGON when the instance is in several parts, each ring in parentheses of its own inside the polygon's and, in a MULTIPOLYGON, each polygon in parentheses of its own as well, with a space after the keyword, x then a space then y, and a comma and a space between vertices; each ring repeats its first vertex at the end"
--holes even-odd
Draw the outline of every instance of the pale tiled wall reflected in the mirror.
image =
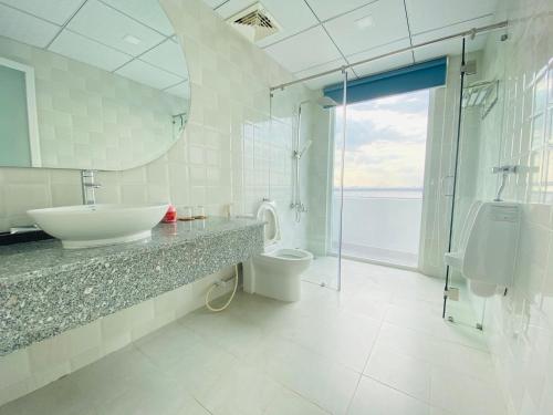
MULTIPOLYGON (((85 45, 75 48, 92 53, 85 45)), ((128 168, 175 143, 170 115, 186 112, 188 101, 6 38, 0 54, 35 70, 44 166, 128 168)))

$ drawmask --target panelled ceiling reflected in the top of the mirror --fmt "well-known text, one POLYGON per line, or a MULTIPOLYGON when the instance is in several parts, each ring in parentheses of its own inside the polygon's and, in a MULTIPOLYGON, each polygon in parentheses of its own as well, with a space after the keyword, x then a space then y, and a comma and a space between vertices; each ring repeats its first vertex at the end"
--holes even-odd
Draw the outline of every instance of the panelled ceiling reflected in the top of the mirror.
POLYGON ((188 97, 188 72, 158 0, 0 0, 0 35, 188 97))

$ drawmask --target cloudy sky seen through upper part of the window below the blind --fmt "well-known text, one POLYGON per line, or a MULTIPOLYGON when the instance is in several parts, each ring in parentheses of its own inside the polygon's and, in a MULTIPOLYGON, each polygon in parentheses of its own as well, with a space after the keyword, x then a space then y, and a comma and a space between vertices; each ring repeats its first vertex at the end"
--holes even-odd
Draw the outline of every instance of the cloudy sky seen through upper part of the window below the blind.
MULTIPOLYGON (((347 105, 345 187, 422 187, 428 102, 422 90, 347 105)), ((342 107, 335 114, 341 146, 342 107)))

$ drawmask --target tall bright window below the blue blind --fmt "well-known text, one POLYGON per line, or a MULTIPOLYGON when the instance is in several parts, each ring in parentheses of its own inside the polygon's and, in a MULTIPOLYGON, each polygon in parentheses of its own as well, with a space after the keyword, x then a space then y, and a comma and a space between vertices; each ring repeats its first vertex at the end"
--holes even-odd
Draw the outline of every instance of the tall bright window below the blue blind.
MULTIPOLYGON (((428 103, 429 90, 422 90, 347 106, 343 255, 417 266, 428 103)), ((335 117, 338 134, 340 108, 335 117)), ((341 145, 336 139, 336 146, 341 145)), ((336 157, 335 168, 340 165, 336 157)), ((340 181, 340 170, 334 177, 340 181)), ((337 181, 335 203, 340 200, 337 181)), ((335 247, 337 239, 333 235, 335 247)))

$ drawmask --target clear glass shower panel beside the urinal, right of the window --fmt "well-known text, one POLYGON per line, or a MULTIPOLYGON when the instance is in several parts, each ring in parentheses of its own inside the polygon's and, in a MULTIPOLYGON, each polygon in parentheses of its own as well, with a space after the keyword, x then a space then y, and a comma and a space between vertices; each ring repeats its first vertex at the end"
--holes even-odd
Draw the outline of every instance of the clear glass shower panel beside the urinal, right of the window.
MULTIPOLYGON (((466 40, 466 75, 459 111, 460 136, 457 187, 453 200, 451 251, 463 250, 469 228, 466 226, 471 206, 489 199, 498 185, 491 168, 499 165, 503 125, 504 45, 503 32, 479 34, 466 40), (470 52, 473 45, 479 51, 470 52), (484 180, 479 172, 490 172, 484 180)), ((455 323, 483 329, 486 298, 474 295, 459 270, 449 270, 445 318, 455 323), (456 299, 457 298, 457 299, 456 299)))

